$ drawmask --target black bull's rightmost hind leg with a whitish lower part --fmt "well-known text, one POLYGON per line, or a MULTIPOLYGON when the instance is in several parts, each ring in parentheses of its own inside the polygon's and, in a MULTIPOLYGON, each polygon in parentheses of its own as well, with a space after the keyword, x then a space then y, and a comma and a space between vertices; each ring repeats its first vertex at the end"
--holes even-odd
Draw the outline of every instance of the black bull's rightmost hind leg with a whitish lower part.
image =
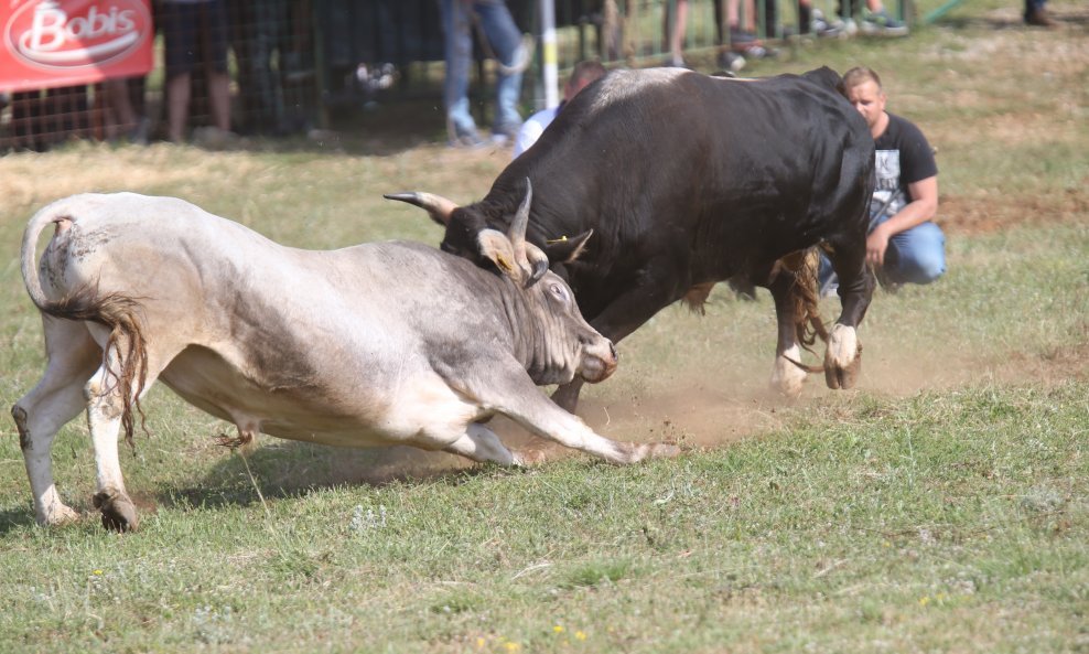
POLYGON ((874 280, 865 268, 865 240, 837 247, 829 254, 839 277, 842 312, 828 339, 824 382, 829 388, 851 388, 862 369, 862 344, 858 326, 873 298, 874 280))

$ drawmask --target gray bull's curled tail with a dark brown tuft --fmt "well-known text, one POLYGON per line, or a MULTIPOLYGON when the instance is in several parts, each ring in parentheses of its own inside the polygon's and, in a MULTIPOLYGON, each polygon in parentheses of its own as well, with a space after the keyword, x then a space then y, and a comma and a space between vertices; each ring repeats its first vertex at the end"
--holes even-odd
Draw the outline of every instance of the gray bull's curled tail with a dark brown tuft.
MULTIPOLYGON (((121 427, 125 441, 133 446, 134 415, 139 414, 141 428, 147 431, 145 416, 140 407, 140 395, 148 380, 148 344, 140 320, 140 303, 121 293, 103 294, 97 285, 84 283, 58 300, 51 300, 42 288, 36 270, 37 239, 48 225, 56 225, 63 234, 75 223, 75 217, 63 206, 51 205, 34 214, 23 232, 21 267, 23 283, 35 307, 47 315, 77 322, 95 322, 109 328, 109 337, 103 349, 104 367, 114 386, 107 384, 104 393, 114 388, 121 395, 121 427), (109 365, 109 353, 117 361, 117 369, 109 365)), ((63 267, 63 262, 58 262, 63 267)))

